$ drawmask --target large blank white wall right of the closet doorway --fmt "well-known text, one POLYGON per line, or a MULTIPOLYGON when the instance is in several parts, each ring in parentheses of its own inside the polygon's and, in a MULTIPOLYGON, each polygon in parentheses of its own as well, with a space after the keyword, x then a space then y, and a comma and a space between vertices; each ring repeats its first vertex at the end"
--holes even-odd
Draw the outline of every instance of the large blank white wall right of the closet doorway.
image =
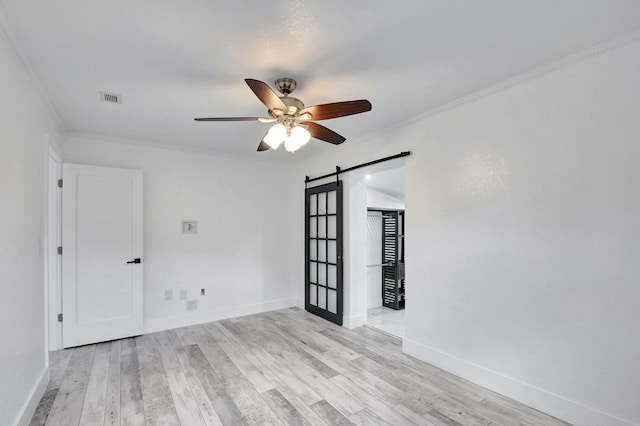
POLYGON ((407 352, 575 424, 640 424, 640 42, 591 53, 301 169, 413 151, 407 352))

